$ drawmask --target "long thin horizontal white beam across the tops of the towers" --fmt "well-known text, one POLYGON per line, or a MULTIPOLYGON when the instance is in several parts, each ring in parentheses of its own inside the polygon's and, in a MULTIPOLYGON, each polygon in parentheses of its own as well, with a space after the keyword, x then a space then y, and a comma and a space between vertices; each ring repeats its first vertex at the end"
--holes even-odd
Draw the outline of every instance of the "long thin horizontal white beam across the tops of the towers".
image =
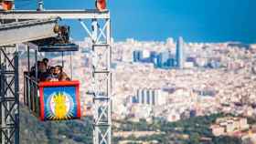
POLYGON ((9 12, 0 12, 0 19, 102 19, 110 18, 109 11, 100 12, 98 10, 14 10, 9 12))

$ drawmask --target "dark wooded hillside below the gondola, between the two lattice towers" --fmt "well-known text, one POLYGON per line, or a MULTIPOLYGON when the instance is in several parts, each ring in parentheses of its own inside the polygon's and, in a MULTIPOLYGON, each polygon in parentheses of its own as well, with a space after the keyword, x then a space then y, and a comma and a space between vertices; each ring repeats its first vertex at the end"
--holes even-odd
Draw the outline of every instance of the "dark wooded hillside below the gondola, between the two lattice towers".
POLYGON ((91 118, 69 121, 39 121, 20 107, 21 144, 91 144, 91 118))

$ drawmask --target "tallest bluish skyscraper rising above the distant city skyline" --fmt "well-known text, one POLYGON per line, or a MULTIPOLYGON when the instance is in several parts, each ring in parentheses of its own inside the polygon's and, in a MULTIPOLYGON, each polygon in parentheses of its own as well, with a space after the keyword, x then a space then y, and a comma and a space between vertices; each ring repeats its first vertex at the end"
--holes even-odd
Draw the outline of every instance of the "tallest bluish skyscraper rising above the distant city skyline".
POLYGON ((184 68, 185 63, 185 49, 184 49, 184 41, 183 38, 180 36, 176 42, 176 67, 184 68))

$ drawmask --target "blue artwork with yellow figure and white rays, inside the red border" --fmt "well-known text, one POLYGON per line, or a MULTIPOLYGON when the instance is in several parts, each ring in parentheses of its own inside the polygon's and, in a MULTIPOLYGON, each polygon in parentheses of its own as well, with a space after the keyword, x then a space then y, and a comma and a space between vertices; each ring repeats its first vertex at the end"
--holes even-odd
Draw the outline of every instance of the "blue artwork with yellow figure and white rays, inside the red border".
POLYGON ((44 120, 66 120, 78 117, 75 88, 44 88, 44 120))

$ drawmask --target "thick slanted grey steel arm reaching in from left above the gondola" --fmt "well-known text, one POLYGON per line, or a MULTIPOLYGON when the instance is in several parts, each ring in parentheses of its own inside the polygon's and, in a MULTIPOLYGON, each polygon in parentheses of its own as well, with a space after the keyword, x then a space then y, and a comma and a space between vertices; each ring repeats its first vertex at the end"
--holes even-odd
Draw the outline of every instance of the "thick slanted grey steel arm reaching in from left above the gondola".
POLYGON ((2 24, 0 26, 0 46, 57 36, 53 30, 56 24, 57 19, 27 20, 2 24))

